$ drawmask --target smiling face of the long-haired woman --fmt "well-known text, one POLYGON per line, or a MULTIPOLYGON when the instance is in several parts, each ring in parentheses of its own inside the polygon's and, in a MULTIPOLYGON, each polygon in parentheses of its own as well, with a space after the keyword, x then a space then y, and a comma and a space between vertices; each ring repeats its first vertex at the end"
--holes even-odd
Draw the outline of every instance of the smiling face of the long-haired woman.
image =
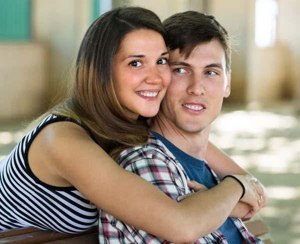
POLYGON ((113 87, 129 116, 152 117, 170 83, 168 52, 162 36, 141 29, 125 36, 113 64, 113 87))

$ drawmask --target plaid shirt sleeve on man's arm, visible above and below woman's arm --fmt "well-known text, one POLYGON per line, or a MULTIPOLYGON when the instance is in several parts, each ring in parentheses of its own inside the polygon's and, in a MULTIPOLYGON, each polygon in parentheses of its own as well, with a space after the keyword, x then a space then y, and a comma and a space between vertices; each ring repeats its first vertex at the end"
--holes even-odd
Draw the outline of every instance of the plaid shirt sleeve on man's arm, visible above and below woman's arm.
MULTIPOLYGON (((143 151, 144 155, 144 151, 143 151)), ((184 184, 178 169, 169 158, 161 152, 153 151, 143 158, 127 160, 120 165, 155 185, 170 198, 176 200, 184 194, 184 184)), ((134 228, 100 210, 99 212, 99 241, 100 243, 169 243, 143 230, 134 228)))

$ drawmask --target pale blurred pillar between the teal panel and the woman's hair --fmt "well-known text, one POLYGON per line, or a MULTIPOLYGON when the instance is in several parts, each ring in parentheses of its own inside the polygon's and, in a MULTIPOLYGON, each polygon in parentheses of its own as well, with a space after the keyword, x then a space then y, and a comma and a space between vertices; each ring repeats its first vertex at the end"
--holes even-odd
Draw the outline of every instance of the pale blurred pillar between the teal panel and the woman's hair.
POLYGON ((32 1, 32 39, 49 51, 48 103, 59 91, 62 96, 66 91, 79 44, 92 21, 91 13, 91 1, 32 1))

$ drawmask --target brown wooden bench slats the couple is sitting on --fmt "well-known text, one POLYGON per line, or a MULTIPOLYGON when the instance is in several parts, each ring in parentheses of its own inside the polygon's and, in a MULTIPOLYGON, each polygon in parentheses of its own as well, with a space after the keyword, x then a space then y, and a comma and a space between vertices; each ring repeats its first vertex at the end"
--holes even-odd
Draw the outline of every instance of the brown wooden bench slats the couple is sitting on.
MULTIPOLYGON (((261 237, 265 244, 273 244, 268 228, 262 219, 244 221, 250 233, 261 237)), ((78 234, 62 234, 51 230, 41 230, 35 227, 24 227, 10 230, 0 230, 0 244, 97 244, 98 228, 92 226, 87 231, 78 234)))

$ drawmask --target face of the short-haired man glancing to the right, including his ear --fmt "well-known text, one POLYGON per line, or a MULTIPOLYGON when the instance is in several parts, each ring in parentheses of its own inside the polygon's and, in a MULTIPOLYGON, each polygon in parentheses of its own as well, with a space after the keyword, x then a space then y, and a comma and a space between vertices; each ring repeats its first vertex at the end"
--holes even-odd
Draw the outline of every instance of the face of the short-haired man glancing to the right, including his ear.
POLYGON ((184 132, 200 132, 218 116, 230 94, 230 72, 218 41, 194 48, 187 59, 178 49, 169 55, 171 83, 160 112, 184 132))

